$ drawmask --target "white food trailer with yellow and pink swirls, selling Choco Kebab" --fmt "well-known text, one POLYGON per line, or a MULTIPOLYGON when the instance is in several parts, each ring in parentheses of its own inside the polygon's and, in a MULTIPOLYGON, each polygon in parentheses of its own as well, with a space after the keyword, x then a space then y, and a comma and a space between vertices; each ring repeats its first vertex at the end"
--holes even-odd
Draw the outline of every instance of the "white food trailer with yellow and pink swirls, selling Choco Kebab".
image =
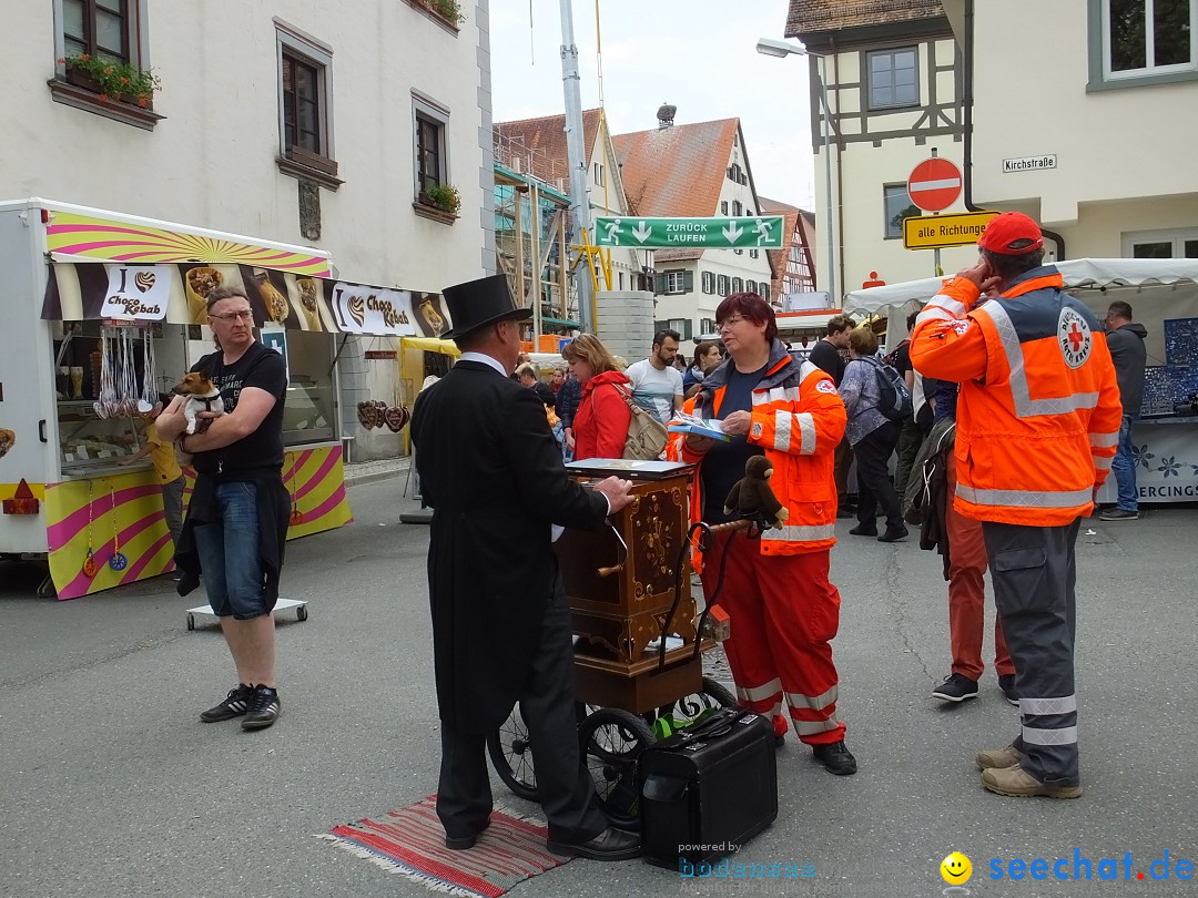
MULTIPOLYGON (((337 374, 349 335, 450 326, 440 296, 335 279, 322 250, 41 199, 0 202, 0 559, 44 562, 38 594, 60 599, 171 570, 157 475, 129 456, 140 412, 214 348, 210 290, 242 287, 288 363, 289 538, 351 520, 337 374)), ((371 405, 371 426, 406 423, 371 405)))

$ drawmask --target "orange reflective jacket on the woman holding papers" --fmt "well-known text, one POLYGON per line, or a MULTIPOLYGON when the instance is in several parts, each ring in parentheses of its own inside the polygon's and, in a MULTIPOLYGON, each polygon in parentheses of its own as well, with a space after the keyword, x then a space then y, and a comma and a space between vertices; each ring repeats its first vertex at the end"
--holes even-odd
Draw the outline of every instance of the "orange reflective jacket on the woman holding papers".
MULTIPOLYGON (((685 409, 702 418, 720 412, 727 386, 726 363, 709 374, 685 409)), ((766 450, 774 468, 769 480, 789 517, 761 536, 764 556, 816 552, 836 544, 836 481, 833 455, 845 435, 845 404, 836 384, 810 362, 799 362, 774 340, 769 363, 752 393, 752 421, 746 439, 766 450)), ((698 465, 690 493, 691 523, 703 512, 703 456, 686 448, 685 436, 672 435, 666 457, 698 465)), ((701 566, 695 552, 695 568, 701 566)))

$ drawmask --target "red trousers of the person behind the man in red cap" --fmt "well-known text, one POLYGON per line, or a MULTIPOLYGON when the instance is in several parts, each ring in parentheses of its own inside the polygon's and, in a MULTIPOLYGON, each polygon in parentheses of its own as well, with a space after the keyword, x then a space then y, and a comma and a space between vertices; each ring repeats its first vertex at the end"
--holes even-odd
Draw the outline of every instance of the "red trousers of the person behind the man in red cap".
MULTIPOLYGON (((957 492, 957 460, 949 451, 949 639, 952 645, 952 673, 970 680, 981 679, 982 631, 986 627, 986 542, 981 521, 958 512, 952 505, 957 492)), ((994 671, 999 675, 1015 673, 1011 655, 1003 638, 1003 626, 994 618, 994 671)))

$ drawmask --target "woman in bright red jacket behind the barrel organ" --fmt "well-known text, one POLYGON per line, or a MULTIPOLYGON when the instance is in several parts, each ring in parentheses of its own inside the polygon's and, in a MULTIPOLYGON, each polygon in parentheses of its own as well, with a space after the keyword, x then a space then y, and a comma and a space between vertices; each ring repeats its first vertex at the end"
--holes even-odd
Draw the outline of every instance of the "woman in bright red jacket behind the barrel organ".
POLYGON ((630 394, 631 382, 593 334, 575 336, 562 357, 582 384, 582 401, 574 415, 574 460, 623 457, 633 412, 622 394, 630 394))

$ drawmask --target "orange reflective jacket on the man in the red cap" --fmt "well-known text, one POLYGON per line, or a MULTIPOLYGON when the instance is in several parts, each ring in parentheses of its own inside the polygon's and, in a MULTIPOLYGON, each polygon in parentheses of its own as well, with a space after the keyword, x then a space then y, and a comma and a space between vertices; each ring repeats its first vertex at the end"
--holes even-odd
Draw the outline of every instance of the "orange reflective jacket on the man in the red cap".
POLYGON ((979 299, 966 278, 920 313, 910 360, 961 383, 956 509, 978 521, 1058 527, 1088 515, 1111 472, 1123 407, 1097 320, 1053 266, 979 299), (970 308, 973 307, 973 308, 970 308))

